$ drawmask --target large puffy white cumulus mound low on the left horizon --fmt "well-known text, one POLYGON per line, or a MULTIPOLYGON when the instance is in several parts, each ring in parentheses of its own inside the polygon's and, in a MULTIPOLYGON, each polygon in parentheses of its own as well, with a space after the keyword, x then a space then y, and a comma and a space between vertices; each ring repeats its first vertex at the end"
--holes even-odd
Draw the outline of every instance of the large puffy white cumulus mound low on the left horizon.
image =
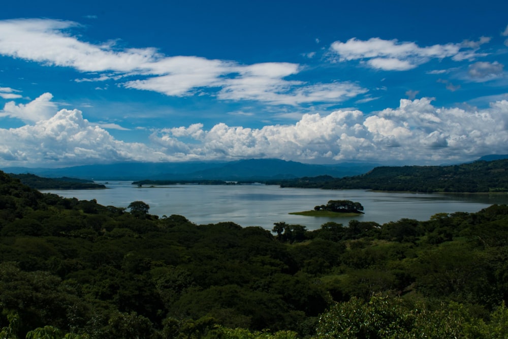
POLYGON ((75 165, 115 161, 158 161, 157 152, 141 143, 115 140, 90 124, 78 110, 60 110, 47 120, 16 129, 0 129, 0 163, 75 165))

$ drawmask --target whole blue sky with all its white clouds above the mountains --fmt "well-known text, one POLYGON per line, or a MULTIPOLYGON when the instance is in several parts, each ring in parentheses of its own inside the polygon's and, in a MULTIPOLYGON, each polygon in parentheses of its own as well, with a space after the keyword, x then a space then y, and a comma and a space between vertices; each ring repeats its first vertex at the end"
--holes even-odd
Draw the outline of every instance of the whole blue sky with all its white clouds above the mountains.
POLYGON ((508 153, 508 3, 26 1, 0 9, 0 168, 508 153))

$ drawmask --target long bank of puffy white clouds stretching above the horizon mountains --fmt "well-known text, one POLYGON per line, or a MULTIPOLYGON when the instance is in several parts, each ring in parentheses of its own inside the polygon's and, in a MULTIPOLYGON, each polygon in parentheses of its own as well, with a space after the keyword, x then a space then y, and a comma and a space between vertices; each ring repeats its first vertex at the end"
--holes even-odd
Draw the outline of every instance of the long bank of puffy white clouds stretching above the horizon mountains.
MULTIPOLYGON (((49 96, 22 107, 36 107, 31 105, 49 96)), ((370 114, 358 110, 304 114, 295 124, 260 129, 216 124, 206 130, 200 123, 162 128, 145 143, 117 140, 100 124, 84 119, 81 111, 63 109, 34 125, 0 129, 0 139, 4 166, 241 158, 439 164, 505 152, 508 101, 494 102, 483 110, 464 110, 438 108, 428 98, 401 99, 397 108, 370 114)))

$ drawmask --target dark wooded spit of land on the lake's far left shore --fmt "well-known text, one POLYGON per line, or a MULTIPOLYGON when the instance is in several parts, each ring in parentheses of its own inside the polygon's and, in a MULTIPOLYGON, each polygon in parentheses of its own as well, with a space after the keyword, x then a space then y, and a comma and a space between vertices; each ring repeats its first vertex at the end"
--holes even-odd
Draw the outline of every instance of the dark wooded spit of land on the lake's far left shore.
POLYGON ((13 178, 18 178, 26 186, 36 190, 89 190, 105 189, 106 186, 94 183, 91 180, 61 177, 44 178, 35 174, 9 174, 13 178))

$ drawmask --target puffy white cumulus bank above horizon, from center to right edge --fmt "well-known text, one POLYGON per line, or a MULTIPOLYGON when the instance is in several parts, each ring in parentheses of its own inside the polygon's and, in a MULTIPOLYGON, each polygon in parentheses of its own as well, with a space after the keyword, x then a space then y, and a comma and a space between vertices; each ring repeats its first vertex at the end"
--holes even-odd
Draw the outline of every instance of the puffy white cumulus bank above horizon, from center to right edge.
POLYGON ((371 115, 335 111, 304 114, 295 125, 261 129, 200 124, 165 129, 151 140, 181 160, 280 158, 303 162, 400 160, 434 163, 503 152, 508 101, 483 111, 437 108, 431 99, 402 99, 398 108, 371 115), (192 142, 184 142, 185 139, 192 142))

